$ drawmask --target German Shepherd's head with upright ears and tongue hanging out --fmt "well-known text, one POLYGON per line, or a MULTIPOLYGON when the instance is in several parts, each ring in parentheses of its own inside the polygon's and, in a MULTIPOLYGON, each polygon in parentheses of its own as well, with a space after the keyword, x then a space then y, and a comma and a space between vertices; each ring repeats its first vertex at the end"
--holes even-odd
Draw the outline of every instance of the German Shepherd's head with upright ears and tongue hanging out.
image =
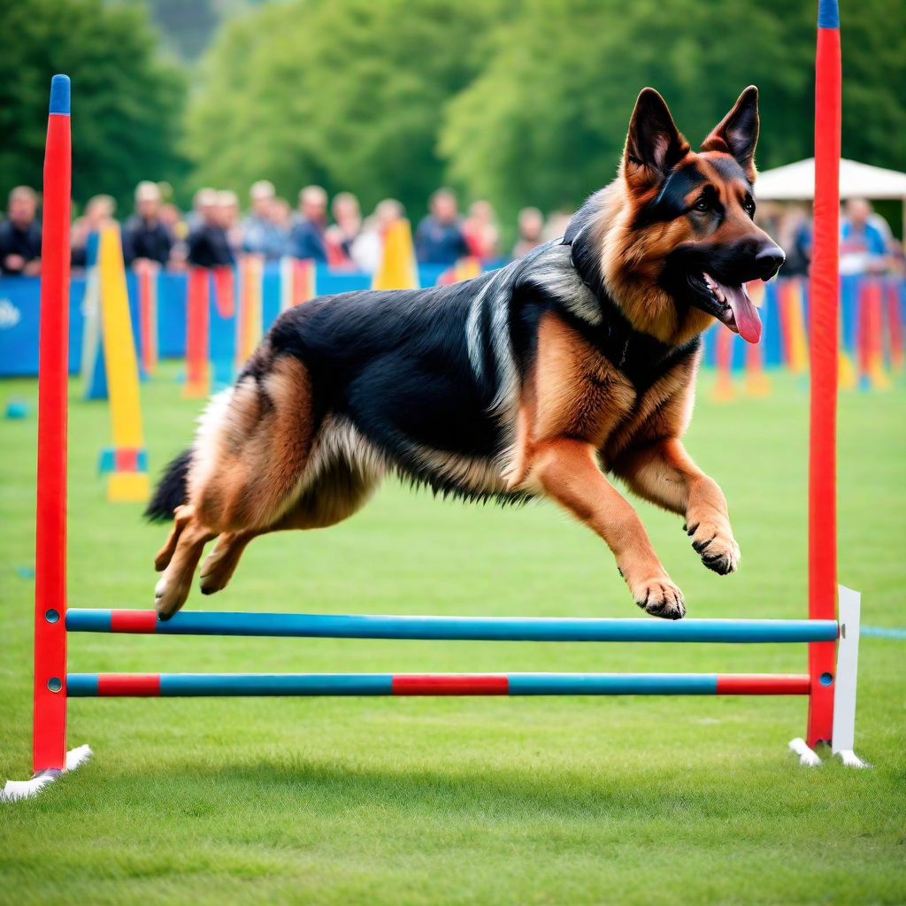
POLYGON ((640 330, 683 342, 717 318, 748 342, 760 338, 745 284, 774 276, 784 253, 753 220, 757 139, 754 86, 698 153, 658 92, 639 95, 620 175, 573 218, 564 241, 640 330))

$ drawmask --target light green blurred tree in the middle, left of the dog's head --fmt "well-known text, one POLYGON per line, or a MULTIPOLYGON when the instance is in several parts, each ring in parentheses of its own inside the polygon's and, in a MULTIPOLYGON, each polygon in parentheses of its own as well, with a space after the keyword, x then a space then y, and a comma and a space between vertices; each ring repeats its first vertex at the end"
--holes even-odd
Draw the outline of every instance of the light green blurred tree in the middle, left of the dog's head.
POLYGON ((292 200, 318 182, 418 216, 443 178, 443 104, 479 71, 503 5, 305 0, 226 24, 188 111, 198 182, 245 198, 269 178, 292 200))

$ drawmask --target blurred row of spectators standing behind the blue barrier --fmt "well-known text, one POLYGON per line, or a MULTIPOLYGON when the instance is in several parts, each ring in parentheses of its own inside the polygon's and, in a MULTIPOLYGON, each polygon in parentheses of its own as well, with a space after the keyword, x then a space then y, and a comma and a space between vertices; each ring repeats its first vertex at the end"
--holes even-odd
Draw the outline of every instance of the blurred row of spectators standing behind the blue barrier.
MULTIPOLYGON (((385 198, 368 217, 362 217, 359 199, 340 192, 330 203, 320 186, 299 193, 296 210, 279 198, 274 185, 259 180, 249 190, 242 215, 235 192, 201 188, 192 209, 182 212, 166 201, 158 183, 140 182, 135 209, 122 225, 123 255, 127 265, 139 260, 178 270, 187 265, 229 265, 237 255, 255 253, 276 260, 286 255, 311 258, 333 268, 374 273, 381 263, 383 236, 394 220, 405 217, 399 201, 385 198)), ((37 275, 41 272, 39 198, 27 186, 9 195, 6 218, 0 221, 0 273, 37 275)), ((72 224, 72 265, 88 262, 92 233, 113 221, 116 205, 98 195, 72 224)), ((485 265, 520 257, 556 236, 562 236, 568 213, 545 219, 536 207, 525 207, 517 218, 516 245, 509 255, 501 248, 494 207, 474 202, 463 216, 456 194, 439 188, 429 199, 429 214, 415 230, 419 262, 455 265, 472 256, 485 265)), ((763 203, 757 221, 786 252, 783 275, 805 275, 812 256, 809 210, 801 205, 763 203)), ((903 248, 883 217, 863 198, 848 200, 841 211, 840 269, 842 274, 903 273, 903 248)))

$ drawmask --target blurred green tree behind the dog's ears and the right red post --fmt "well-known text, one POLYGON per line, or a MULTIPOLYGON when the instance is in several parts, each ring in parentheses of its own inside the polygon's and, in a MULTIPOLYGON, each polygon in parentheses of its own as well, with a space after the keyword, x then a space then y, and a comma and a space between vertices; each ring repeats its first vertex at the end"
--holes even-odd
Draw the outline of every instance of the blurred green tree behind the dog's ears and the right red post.
MULTIPOLYGON (((901 0, 843 8, 843 154, 906 159, 901 0)), ((449 174, 506 217, 572 208, 609 182, 645 85, 695 146, 739 92, 761 92, 762 169, 811 156, 815 5, 786 0, 527 0, 475 82, 450 101, 449 174)))

